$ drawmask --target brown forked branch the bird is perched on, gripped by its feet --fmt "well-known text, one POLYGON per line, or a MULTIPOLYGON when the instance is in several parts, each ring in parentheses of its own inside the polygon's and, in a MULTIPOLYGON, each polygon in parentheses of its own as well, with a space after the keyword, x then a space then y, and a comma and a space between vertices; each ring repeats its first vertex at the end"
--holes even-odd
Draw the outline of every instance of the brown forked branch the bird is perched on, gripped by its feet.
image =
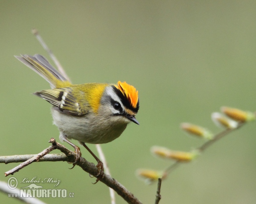
MULTIPOLYGON (((68 150, 64 145, 59 144, 58 142, 55 142, 55 139, 52 138, 50 139, 50 141, 52 143, 52 148, 48 147, 47 149, 45 149, 44 151, 42 151, 41 153, 37 154, 37 155, 32 155, 31 157, 31 161, 27 162, 29 164, 31 164, 32 162, 35 161, 46 161, 47 159, 49 159, 49 157, 51 157, 51 159, 49 159, 50 161, 68 161, 68 162, 74 162, 76 159, 76 154, 73 151, 68 150), (63 152, 65 154, 66 159, 63 159, 63 155, 62 154, 51 154, 51 155, 45 155, 45 152, 50 152, 51 150, 54 149, 58 149, 61 150, 61 152, 63 152)), ((13 158, 11 158, 12 156, 2 156, 0 157, 0 163, 11 163, 11 161, 13 160, 14 162, 20 162, 20 161, 24 161, 24 158, 27 158, 28 155, 24 155, 24 156, 13 156, 13 158)), ((26 161, 25 161, 26 162, 26 161)), ((26 165, 19 165, 18 167, 13 168, 12 170, 9 170, 8 172, 6 172, 6 176, 7 173, 8 174, 13 174, 15 172, 17 172, 18 170, 22 169, 23 167, 25 167, 26 165)), ((81 158, 81 161, 79 162, 79 164, 77 164, 79 167, 81 167, 84 171, 86 171, 87 173, 89 173, 90 175, 96 176, 98 175, 98 168, 95 166, 95 164, 87 161, 84 158, 81 158)), ((129 204, 142 204, 138 198, 136 198, 129 190, 127 190, 122 184, 120 184, 118 181, 116 181, 114 178, 111 178, 111 176, 107 175, 104 173, 103 177, 100 178, 100 180, 102 183, 106 184, 108 187, 113 188, 113 190, 116 191, 116 193, 118 195, 120 195, 125 201, 127 201, 129 204)))

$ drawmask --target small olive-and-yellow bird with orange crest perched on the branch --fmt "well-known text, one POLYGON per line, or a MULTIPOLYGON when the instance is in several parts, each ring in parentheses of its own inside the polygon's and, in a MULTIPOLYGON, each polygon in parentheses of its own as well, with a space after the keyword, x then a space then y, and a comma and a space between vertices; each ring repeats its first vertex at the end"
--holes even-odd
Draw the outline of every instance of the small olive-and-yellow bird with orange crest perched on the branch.
POLYGON ((80 162, 81 151, 69 139, 78 140, 96 159, 99 170, 97 183, 103 175, 104 167, 85 143, 108 143, 118 138, 129 122, 139 125, 135 118, 139 110, 138 91, 120 81, 117 85, 73 85, 39 54, 15 57, 49 82, 52 89, 34 94, 52 104, 53 123, 60 131, 59 139, 75 148, 76 160, 73 167, 80 162))

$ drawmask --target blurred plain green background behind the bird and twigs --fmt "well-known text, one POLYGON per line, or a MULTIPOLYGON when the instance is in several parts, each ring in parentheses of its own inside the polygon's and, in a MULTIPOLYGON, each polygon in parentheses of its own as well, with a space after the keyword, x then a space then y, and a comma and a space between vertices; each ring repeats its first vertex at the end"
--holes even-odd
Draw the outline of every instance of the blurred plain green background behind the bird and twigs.
MULTIPOLYGON (((137 88, 140 125, 129 125, 102 148, 112 176, 143 203, 154 203, 157 184, 146 185, 135 171, 163 170, 172 161, 156 159, 151 146, 191 150, 203 141, 186 136, 181 122, 218 132, 210 114, 222 105, 256 110, 255 22, 256 1, 250 0, 0 0, 0 155, 36 154, 51 137, 59 141, 50 105, 32 95, 49 85, 13 57, 49 58, 31 33, 37 28, 73 83, 121 80, 137 88)), ((255 135, 251 122, 179 167, 163 181, 160 203, 255 204, 255 135)), ((89 147, 96 152, 95 145, 89 147)), ((0 164, 0 180, 7 181, 4 172, 16 165, 0 164)), ((40 162, 14 176, 57 178, 60 189, 74 193, 75 198, 41 199, 49 204, 110 203, 108 187, 91 184, 95 178, 69 167, 40 162)), ((116 201, 125 203, 118 195, 116 201)), ((19 203, 3 193, 0 202, 19 203)))

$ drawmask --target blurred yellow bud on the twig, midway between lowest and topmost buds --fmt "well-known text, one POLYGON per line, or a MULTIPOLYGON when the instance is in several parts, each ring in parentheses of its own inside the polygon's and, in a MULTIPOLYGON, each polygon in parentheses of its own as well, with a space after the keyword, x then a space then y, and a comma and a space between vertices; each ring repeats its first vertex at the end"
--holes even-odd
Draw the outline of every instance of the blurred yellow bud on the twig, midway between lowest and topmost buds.
POLYGON ((206 139, 212 139, 213 137, 213 134, 209 130, 198 125, 183 122, 181 123, 180 127, 192 135, 200 136, 206 139))

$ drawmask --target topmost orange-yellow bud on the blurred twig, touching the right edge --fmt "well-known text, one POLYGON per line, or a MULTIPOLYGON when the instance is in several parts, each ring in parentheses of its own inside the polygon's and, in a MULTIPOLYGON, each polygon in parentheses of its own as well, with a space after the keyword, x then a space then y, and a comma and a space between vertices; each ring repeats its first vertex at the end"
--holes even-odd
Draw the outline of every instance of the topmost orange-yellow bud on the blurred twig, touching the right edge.
POLYGON ((238 122, 246 122, 255 120, 255 114, 252 112, 241 111, 236 108, 221 107, 221 112, 225 113, 231 119, 238 122))

